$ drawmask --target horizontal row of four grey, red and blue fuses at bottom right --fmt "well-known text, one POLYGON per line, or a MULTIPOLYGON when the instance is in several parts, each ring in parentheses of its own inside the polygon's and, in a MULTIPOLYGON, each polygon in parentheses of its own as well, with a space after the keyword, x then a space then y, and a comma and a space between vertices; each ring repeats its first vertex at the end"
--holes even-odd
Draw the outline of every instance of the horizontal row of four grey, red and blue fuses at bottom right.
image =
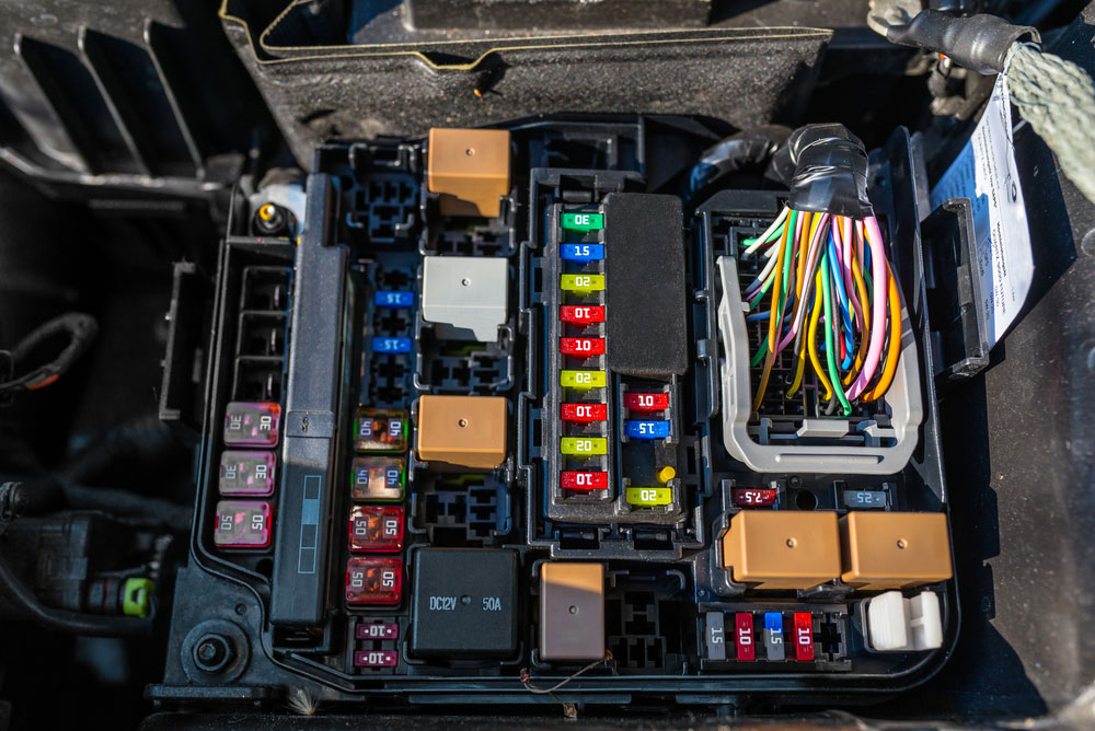
MULTIPOLYGON (((762 659, 780 661, 787 659, 785 633, 782 612, 764 612, 762 631, 764 655, 762 659)), ((708 660, 726 660, 725 619, 722 612, 708 612, 707 628, 704 633, 708 660)), ((757 660, 757 633, 754 631, 752 612, 734 614, 734 647, 735 658, 741 662, 757 660)), ((792 613, 793 659, 798 662, 814 662, 814 615, 809 612, 792 613)))

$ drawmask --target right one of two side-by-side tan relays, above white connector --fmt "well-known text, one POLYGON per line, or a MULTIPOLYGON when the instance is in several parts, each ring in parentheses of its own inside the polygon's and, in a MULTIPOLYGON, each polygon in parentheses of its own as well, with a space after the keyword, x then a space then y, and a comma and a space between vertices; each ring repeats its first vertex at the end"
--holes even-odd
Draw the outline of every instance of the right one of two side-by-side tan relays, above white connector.
POLYGON ((944 513, 853 510, 840 519, 840 579, 857 589, 902 589, 950 578, 944 513))

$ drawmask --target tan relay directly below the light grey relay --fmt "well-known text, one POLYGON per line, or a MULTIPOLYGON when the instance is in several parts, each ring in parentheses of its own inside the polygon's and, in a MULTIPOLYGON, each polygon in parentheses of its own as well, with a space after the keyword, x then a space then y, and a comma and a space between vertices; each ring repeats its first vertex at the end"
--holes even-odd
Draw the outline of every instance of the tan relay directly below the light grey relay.
POLYGON ((431 467, 493 469, 506 461, 506 422, 500 396, 423 396, 418 457, 431 467))

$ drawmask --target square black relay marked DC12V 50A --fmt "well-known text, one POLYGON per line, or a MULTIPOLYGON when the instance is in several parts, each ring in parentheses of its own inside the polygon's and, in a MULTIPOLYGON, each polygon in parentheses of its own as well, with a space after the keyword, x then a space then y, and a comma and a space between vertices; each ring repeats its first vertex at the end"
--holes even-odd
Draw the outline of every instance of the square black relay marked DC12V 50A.
POLYGON ((424 548, 414 557, 411 652, 509 657, 517 652, 517 553, 424 548))

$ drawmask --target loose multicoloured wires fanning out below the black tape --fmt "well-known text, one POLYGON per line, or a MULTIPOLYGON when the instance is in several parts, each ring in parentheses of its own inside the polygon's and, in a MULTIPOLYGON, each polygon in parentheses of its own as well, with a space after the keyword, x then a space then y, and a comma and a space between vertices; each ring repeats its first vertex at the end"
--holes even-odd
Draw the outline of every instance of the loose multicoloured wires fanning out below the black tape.
POLYGON ((788 346, 795 359, 788 398, 803 385, 807 360, 825 391, 826 414, 839 405, 850 416, 853 402, 880 398, 901 357, 901 303, 877 219, 784 208, 744 245, 742 258, 766 259, 742 290, 747 320, 768 323, 751 362, 764 360, 752 410, 764 401, 772 366, 788 346), (761 301, 766 310, 758 309, 761 301))

